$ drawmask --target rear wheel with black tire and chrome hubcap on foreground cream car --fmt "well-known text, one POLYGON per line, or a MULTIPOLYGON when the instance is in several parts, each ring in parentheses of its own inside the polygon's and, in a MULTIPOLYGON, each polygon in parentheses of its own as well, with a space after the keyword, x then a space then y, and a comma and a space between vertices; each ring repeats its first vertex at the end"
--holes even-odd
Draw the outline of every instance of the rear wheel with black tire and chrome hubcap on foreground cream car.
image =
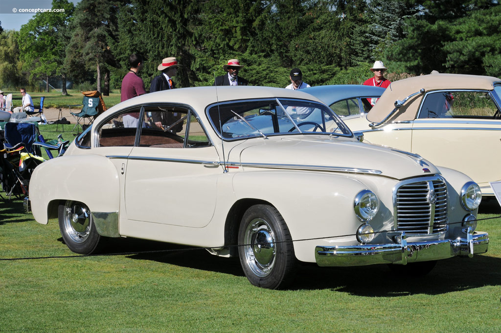
POLYGON ((59 205, 58 216, 61 236, 70 250, 80 254, 91 254, 96 250, 101 235, 85 204, 67 200, 59 205))

